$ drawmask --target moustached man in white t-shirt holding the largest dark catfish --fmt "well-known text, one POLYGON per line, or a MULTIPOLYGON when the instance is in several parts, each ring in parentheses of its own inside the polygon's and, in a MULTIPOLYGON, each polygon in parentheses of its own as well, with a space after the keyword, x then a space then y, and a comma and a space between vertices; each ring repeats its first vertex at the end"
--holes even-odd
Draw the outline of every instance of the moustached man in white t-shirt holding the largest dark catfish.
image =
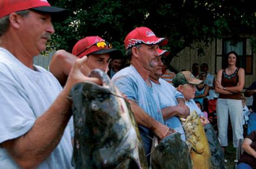
POLYGON ((52 19, 65 9, 46 0, 0 1, 0 168, 73 168, 70 127, 71 87, 99 79, 80 71, 77 59, 62 89, 33 58, 54 33, 52 19))

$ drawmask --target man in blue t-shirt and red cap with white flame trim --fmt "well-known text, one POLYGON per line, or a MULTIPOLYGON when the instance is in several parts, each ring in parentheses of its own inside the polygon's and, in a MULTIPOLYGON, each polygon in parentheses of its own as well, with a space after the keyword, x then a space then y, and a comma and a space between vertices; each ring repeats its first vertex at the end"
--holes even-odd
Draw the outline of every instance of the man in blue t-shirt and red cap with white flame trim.
POLYGON ((157 66, 159 59, 157 49, 166 43, 165 38, 157 38, 149 28, 133 29, 124 40, 127 55, 132 57, 131 65, 112 78, 119 90, 130 99, 148 163, 153 134, 162 139, 170 133, 170 129, 164 125, 157 94, 153 92, 149 79, 150 70, 157 66))

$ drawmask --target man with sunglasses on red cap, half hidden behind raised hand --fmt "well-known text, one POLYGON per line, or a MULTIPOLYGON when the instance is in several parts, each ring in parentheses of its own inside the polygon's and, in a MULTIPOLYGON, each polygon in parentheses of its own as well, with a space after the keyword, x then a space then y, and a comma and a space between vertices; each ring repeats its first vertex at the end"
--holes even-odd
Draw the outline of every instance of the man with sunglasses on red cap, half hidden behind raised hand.
POLYGON ((88 59, 82 70, 101 69, 107 72, 110 58, 122 57, 122 52, 113 49, 110 43, 99 36, 87 36, 78 40, 74 45, 72 54, 65 50, 55 52, 48 68, 61 83, 61 86, 64 86, 76 58, 83 58, 84 56, 87 56, 88 59))

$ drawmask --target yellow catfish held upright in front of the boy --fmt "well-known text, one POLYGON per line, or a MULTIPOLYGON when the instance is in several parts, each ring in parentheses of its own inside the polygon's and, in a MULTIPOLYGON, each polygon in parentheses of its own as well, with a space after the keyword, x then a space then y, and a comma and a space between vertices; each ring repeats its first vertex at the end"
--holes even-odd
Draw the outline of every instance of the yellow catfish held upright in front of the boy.
POLYGON ((211 168, 211 150, 196 111, 192 111, 186 119, 180 118, 186 132, 186 143, 191 152, 193 168, 211 168))

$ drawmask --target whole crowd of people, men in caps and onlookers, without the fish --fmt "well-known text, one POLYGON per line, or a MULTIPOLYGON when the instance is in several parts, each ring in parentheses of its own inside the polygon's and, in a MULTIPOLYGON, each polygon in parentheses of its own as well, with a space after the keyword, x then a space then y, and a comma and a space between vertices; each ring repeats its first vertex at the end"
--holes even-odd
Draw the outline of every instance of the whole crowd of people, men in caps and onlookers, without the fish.
MULTIPOLYGON (((157 136, 160 141, 179 132, 186 141, 180 119, 196 111, 202 126, 209 124, 210 100, 216 100, 218 137, 223 150, 228 146, 228 118, 233 146, 243 138, 241 91, 245 72, 237 66, 238 55, 234 51, 227 54, 227 67, 218 71, 216 80, 206 63, 200 66, 201 72, 199 64, 194 63, 192 72, 173 73, 166 62, 169 52, 160 49, 168 40, 157 37, 149 28, 138 27, 124 39, 129 66, 123 66, 122 52, 107 40, 87 36, 78 40, 72 53, 55 52, 45 70, 34 65, 33 58, 46 49, 47 40, 55 32, 52 19, 65 19, 67 11, 40 0, 4 1, 0 11, 0 168, 73 168, 74 121, 67 98, 76 83, 101 85, 99 79, 87 76, 93 69, 108 73, 126 96, 149 165, 151 138, 157 136)), ((255 93, 256 82, 244 94, 253 96, 254 102, 248 118, 249 135, 244 140, 247 154, 239 164, 252 168, 256 157, 255 93), (248 157, 251 160, 247 161, 248 157)))

